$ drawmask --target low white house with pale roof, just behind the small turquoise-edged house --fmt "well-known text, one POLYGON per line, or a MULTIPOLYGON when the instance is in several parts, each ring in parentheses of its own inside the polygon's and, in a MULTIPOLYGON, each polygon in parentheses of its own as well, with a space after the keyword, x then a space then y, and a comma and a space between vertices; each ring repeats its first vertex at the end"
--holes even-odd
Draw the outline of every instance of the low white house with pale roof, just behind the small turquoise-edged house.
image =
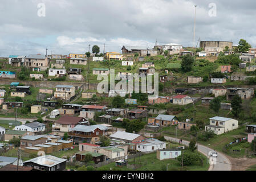
POLYGON ((145 139, 144 142, 137 143, 137 150, 141 152, 154 152, 166 148, 166 143, 155 138, 145 139))

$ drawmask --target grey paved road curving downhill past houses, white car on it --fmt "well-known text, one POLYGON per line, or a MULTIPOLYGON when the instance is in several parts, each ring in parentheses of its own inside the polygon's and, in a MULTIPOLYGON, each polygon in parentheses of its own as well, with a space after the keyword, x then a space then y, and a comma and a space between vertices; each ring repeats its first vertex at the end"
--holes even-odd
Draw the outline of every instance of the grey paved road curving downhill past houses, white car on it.
MULTIPOLYGON (((164 137, 166 140, 171 140, 175 142, 175 138, 172 137, 164 137)), ((177 142, 180 139, 177 138, 177 142)), ((182 144, 185 144, 188 146, 189 142, 186 140, 182 140, 182 144)), ((198 144, 198 151, 201 152, 202 154, 208 156, 208 153, 212 151, 211 148, 202 146, 201 144, 198 144)), ((231 162, 229 159, 224 154, 221 154, 218 152, 218 158, 216 164, 213 164, 213 162, 210 162, 210 168, 209 171, 231 171, 231 162)))

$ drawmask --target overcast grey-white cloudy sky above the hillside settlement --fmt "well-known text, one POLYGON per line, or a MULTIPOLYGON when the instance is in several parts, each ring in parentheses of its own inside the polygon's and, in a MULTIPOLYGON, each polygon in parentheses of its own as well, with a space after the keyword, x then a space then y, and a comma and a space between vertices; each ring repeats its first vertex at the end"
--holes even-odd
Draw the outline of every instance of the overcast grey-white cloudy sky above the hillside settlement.
POLYGON ((246 39, 256 46, 255 0, 8 0, 0 6, 0 56, 100 52, 121 47, 246 39), (44 3, 46 16, 38 16, 44 3), (216 16, 214 6, 216 5, 216 16), (212 11, 213 10, 213 11, 212 11), (209 11, 210 14, 209 15, 209 11))

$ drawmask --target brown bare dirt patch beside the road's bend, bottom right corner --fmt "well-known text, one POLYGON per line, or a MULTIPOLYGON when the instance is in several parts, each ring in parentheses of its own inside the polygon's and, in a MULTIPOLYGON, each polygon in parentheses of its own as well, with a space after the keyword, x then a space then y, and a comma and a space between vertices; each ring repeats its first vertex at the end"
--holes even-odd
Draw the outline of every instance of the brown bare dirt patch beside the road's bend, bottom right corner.
POLYGON ((256 159, 250 159, 250 158, 231 158, 230 156, 227 156, 229 158, 232 167, 231 171, 245 171, 248 167, 256 164, 256 159))

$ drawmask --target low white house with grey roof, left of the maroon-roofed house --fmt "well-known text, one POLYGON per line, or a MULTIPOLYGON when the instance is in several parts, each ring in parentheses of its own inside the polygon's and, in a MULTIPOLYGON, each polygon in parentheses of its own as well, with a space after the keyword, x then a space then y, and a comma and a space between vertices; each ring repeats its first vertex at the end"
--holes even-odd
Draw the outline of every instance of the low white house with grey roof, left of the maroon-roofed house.
POLYGON ((19 125, 14 127, 14 130, 17 130, 17 131, 30 131, 35 133, 39 131, 44 131, 45 129, 46 129, 46 125, 39 122, 27 123, 25 125, 19 125))

